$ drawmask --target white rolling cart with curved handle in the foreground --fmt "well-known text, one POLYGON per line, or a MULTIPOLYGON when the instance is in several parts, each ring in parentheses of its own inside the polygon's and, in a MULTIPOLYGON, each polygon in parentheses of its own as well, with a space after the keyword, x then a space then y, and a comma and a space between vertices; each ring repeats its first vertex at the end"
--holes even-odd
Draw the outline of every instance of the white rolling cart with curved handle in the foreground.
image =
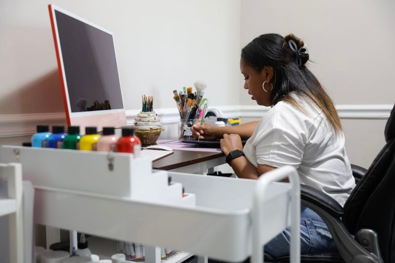
POLYGON ((259 180, 160 171, 125 153, 3 146, 0 161, 22 163, 35 187, 35 223, 240 262, 263 261, 263 245, 291 225, 291 262, 300 262, 300 188, 284 167, 259 180), (167 179, 171 176, 172 183, 167 179), (276 182, 288 177, 290 183, 276 182), (182 194, 185 188, 186 195, 182 194))

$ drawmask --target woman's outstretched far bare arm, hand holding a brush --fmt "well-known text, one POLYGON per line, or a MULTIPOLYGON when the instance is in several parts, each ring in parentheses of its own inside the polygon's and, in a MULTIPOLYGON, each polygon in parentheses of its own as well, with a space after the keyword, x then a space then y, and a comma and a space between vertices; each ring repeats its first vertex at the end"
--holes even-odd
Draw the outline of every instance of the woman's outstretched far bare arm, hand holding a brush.
POLYGON ((195 124, 192 128, 194 138, 200 140, 215 140, 223 138, 224 134, 237 134, 242 139, 249 139, 254 133, 258 121, 250 121, 236 126, 214 127, 210 124, 195 124))

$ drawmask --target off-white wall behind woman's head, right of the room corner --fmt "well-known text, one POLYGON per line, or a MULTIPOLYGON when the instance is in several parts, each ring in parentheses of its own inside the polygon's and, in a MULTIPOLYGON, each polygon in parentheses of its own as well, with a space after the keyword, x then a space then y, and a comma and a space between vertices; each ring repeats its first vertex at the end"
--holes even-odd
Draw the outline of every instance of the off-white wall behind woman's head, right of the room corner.
MULTIPOLYGON (((241 46, 265 33, 294 33, 336 104, 393 104, 394 12, 394 0, 242 0, 241 46)), ((241 104, 253 103, 242 93, 241 104)))

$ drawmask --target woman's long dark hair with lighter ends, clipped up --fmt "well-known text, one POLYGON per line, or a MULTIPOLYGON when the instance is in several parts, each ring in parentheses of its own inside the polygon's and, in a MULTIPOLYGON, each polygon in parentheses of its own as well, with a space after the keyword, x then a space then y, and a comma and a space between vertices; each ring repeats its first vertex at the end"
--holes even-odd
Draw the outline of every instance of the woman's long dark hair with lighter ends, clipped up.
POLYGON ((278 34, 265 34, 255 38, 241 50, 241 59, 258 73, 265 66, 273 68, 272 105, 287 101, 304 112, 289 94, 294 91, 302 97, 310 98, 325 114, 335 133, 341 132, 342 124, 331 98, 316 76, 305 66, 309 54, 297 57, 297 53, 288 44, 290 39, 296 43, 297 50, 304 45, 303 40, 293 34, 285 38, 278 34))

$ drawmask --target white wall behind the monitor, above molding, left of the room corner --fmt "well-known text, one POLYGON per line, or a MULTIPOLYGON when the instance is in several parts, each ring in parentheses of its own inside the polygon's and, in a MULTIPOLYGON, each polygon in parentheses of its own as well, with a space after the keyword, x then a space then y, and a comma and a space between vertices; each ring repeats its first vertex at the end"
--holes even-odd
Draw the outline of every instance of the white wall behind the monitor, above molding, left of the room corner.
POLYGON ((175 107, 198 79, 211 104, 238 104, 238 0, 1 0, 0 114, 64 111, 48 3, 114 33, 125 109, 175 107))

